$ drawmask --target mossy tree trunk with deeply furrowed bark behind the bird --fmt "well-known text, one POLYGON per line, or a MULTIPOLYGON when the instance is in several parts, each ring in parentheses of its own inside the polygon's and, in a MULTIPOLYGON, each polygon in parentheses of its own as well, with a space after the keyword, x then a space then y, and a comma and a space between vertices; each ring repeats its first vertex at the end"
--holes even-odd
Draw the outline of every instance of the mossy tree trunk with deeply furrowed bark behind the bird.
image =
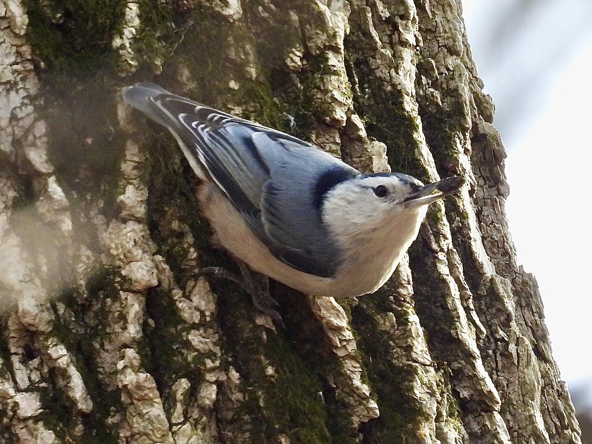
POLYGON ((4 442, 578 443, 456 0, 2 0, 4 442), (124 104, 153 80, 365 172, 462 175, 387 284, 276 282, 210 242, 197 179, 124 104))

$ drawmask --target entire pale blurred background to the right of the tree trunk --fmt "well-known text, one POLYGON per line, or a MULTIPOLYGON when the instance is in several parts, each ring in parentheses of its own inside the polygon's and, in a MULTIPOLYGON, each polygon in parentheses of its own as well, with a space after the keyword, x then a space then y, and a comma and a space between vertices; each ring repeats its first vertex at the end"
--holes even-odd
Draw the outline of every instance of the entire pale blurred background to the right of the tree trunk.
POLYGON ((555 361, 582 440, 592 443, 592 1, 462 6, 509 153, 507 211, 519 263, 539 282, 555 361))

